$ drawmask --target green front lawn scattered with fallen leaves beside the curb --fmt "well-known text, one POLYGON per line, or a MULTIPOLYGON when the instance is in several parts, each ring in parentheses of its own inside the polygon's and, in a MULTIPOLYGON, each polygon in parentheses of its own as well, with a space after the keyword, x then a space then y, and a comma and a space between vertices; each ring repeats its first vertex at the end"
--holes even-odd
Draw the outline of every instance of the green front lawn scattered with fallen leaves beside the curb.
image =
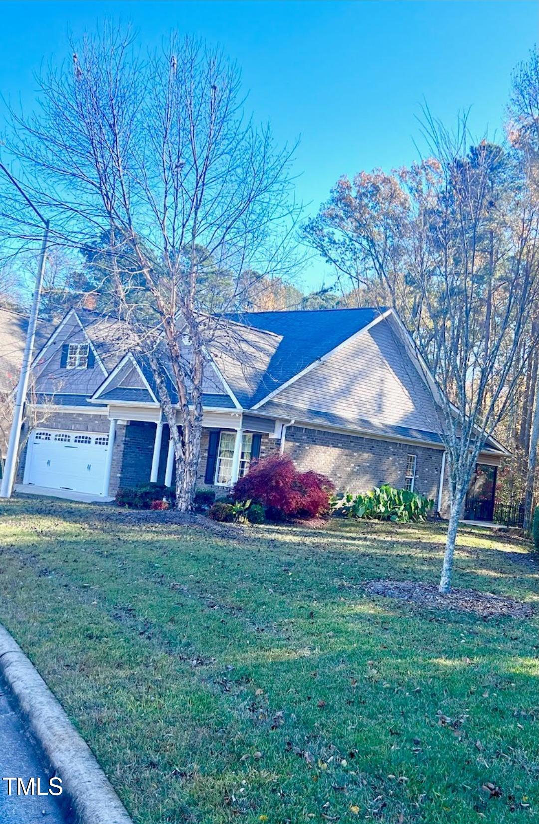
MULTIPOLYGON (((443 527, 225 535, 0 508, 0 620, 137 824, 537 820, 537 617, 362 588, 436 583, 443 527)), ((456 586, 538 606, 538 581, 523 541, 462 532, 456 586)))

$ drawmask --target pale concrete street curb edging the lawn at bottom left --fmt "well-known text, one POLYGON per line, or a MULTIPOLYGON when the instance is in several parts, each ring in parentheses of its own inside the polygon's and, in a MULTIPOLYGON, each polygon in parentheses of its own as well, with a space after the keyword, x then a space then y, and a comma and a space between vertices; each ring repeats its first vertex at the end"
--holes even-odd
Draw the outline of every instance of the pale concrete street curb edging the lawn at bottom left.
POLYGON ((90 747, 1 624, 0 673, 54 774, 62 779, 58 800, 71 804, 77 824, 133 824, 90 747))

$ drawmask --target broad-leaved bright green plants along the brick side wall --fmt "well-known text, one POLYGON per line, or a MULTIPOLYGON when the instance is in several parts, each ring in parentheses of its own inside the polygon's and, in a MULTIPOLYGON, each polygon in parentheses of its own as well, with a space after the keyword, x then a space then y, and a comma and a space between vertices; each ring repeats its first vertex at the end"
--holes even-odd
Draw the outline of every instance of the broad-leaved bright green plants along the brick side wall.
POLYGON ((434 501, 424 495, 383 485, 354 499, 347 494, 342 502, 335 500, 334 511, 357 519, 409 523, 425 521, 433 507, 434 501))

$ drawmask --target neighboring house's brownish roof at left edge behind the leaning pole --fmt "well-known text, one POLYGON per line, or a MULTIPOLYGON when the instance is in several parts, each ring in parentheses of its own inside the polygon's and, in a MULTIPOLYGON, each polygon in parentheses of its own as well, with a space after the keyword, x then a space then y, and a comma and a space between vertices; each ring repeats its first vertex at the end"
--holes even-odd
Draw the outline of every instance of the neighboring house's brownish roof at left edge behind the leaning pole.
MULTIPOLYGON (((12 389, 19 380, 28 320, 28 316, 21 312, 0 308, 0 391, 12 389)), ((34 352, 43 347, 53 328, 49 321, 38 319, 34 352)))

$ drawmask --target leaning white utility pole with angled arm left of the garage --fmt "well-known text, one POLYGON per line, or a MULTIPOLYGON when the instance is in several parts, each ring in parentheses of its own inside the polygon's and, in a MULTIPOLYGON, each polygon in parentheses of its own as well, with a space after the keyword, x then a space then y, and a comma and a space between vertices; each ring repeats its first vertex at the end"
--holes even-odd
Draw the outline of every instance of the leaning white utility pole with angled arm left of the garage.
POLYGON ((39 271, 35 281, 34 298, 32 300, 32 308, 30 311, 30 318, 28 321, 28 331, 26 332, 25 353, 22 358, 21 377, 19 378, 19 385, 16 390, 15 410, 13 411, 12 431, 9 436, 9 446, 7 447, 6 466, 4 467, 4 476, 2 478, 2 489, 0 489, 0 498, 11 498, 13 492, 13 485, 15 483, 16 463, 19 454, 19 445, 21 443, 21 426, 22 416, 24 414, 26 403, 26 392, 28 391, 28 382, 30 380, 30 368, 32 365, 32 354, 34 352, 35 326, 39 314, 39 301, 41 299, 41 288, 43 287, 43 279, 45 274, 45 261, 47 258, 47 244, 49 242, 49 221, 45 220, 43 215, 35 208, 30 198, 21 190, 21 186, 16 182, 15 178, 7 171, 6 167, 0 163, 0 169, 6 173, 16 188, 21 192, 22 196, 34 209, 40 220, 44 222, 45 231, 43 236, 43 244, 41 246, 41 255, 39 257, 39 271))

